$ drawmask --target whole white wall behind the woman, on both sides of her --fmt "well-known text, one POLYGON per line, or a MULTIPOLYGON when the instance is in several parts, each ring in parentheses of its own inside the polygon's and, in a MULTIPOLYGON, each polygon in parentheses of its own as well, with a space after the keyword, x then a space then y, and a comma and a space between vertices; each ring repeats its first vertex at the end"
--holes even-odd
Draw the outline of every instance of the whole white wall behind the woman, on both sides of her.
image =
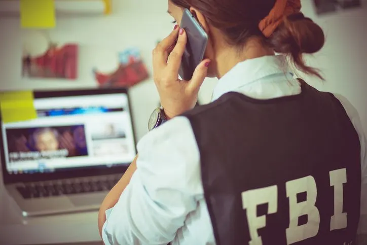
MULTIPOLYGON (((60 44, 80 44, 79 79, 76 81, 28 80, 21 78, 22 39, 40 40, 35 45, 42 49, 43 39, 37 34, 20 30, 19 20, 0 19, 0 89, 64 89, 95 87, 92 67, 112 71, 117 66, 117 53, 134 46, 141 49, 143 59, 152 71, 151 52, 159 39, 164 38, 173 25, 166 14, 166 0, 114 0, 114 14, 107 17, 58 19, 57 27, 49 31, 52 41, 60 44)), ((327 34, 325 48, 310 59, 322 69, 327 82, 315 78, 307 81, 318 89, 345 95, 360 113, 367 131, 367 91, 364 71, 367 68, 364 48, 367 40, 366 8, 338 15, 317 18, 310 0, 303 0, 303 12, 320 23, 327 34), (364 24, 363 24, 364 23, 364 24)), ((215 79, 208 79, 200 92, 202 102, 208 102, 215 79)), ((132 108, 137 138, 146 130, 148 118, 159 101, 154 82, 143 82, 131 89, 132 108)))

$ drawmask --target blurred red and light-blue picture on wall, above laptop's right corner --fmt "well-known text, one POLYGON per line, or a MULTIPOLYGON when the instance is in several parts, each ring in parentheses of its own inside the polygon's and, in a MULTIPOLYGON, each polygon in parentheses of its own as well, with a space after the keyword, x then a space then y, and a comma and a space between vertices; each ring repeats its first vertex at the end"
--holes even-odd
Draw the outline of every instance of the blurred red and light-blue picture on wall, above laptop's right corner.
POLYGON ((94 68, 93 74, 101 88, 131 87, 149 78, 148 69, 137 48, 126 49, 119 53, 119 64, 114 72, 103 73, 94 68))

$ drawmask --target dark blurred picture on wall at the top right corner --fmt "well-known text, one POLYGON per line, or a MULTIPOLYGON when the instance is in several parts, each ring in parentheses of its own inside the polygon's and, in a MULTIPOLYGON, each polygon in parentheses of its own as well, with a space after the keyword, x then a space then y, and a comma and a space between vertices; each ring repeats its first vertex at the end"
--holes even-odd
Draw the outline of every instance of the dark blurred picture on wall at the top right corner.
POLYGON ((360 0, 313 0, 313 3, 318 15, 361 7, 360 0))

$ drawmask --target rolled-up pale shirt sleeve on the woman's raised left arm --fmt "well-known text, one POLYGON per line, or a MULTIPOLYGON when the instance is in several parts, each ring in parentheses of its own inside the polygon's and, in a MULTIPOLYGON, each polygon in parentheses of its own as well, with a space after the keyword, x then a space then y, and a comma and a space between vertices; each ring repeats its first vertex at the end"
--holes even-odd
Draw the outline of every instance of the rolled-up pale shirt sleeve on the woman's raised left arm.
POLYGON ((203 198, 200 155, 185 117, 145 135, 137 169, 102 229, 105 244, 167 244, 203 198))

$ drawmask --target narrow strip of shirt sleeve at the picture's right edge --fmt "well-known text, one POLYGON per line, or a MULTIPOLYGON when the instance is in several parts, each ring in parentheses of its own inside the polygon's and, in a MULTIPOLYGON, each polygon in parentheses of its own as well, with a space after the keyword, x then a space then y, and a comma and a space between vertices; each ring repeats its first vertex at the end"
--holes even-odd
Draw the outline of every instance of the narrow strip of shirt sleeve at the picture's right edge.
POLYGON ((342 95, 336 94, 336 98, 342 103, 345 111, 347 112, 351 122, 354 125, 355 130, 358 133, 360 141, 360 159, 362 170, 362 185, 361 185, 361 206, 360 206, 360 220, 358 227, 358 234, 367 235, 367 145, 366 137, 363 131, 362 124, 359 119, 357 110, 352 104, 342 95))

